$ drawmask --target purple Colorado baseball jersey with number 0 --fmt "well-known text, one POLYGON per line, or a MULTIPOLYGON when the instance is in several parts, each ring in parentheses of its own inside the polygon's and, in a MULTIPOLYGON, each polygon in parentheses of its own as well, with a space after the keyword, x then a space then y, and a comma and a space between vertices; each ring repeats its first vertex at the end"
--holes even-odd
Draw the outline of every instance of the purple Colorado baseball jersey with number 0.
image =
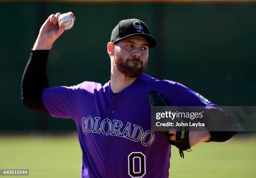
POLYGON ((158 90, 172 106, 213 104, 182 84, 146 74, 115 95, 110 84, 85 81, 44 89, 49 114, 76 123, 82 178, 168 178, 171 146, 151 131, 148 93, 158 90))

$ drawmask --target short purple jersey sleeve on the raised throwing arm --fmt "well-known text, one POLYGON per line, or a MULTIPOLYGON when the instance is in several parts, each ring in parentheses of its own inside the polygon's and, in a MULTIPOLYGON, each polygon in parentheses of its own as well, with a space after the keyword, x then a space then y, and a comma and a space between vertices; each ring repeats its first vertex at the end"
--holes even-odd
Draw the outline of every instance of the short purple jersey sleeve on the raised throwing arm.
POLYGON ((44 106, 52 117, 74 118, 76 96, 80 85, 56 86, 44 89, 42 99, 44 106))

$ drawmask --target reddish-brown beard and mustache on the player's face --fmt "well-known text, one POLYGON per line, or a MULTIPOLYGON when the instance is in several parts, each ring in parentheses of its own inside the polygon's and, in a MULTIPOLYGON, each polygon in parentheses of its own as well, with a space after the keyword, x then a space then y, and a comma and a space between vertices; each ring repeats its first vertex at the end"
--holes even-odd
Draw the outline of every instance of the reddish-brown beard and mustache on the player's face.
POLYGON ((117 53, 114 54, 114 64, 118 71, 125 76, 138 77, 147 67, 147 63, 143 65, 143 61, 140 58, 122 58, 117 53))

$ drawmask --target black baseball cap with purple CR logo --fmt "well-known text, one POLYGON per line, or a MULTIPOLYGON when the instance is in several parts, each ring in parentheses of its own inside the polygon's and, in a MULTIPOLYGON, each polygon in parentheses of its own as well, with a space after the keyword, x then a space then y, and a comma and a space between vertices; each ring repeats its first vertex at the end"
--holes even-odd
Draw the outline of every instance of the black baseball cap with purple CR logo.
POLYGON ((132 35, 146 38, 149 48, 153 48, 157 44, 156 39, 150 35, 148 26, 143 21, 136 18, 121 20, 113 29, 110 42, 115 43, 132 35))

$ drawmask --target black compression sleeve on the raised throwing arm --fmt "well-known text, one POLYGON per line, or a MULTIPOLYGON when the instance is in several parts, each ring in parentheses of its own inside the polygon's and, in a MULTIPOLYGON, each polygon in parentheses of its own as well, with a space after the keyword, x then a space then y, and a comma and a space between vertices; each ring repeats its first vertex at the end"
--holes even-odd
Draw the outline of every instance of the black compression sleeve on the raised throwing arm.
POLYGON ((37 112, 49 114, 46 110, 42 94, 49 87, 46 65, 49 50, 31 50, 28 63, 21 81, 21 98, 23 104, 37 112))

